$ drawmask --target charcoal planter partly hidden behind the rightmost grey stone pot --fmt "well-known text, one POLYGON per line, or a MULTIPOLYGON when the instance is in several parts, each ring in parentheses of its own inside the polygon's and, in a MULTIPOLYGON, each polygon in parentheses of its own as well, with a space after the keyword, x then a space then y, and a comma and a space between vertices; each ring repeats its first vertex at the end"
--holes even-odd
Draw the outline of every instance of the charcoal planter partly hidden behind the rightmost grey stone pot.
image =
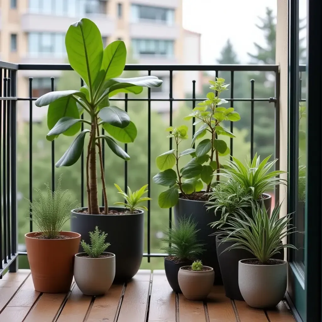
MULTIPOLYGON (((232 246, 234 242, 220 243, 222 238, 222 235, 216 236, 216 249, 225 293, 228 298, 243 301, 244 299, 238 286, 238 262, 240 260, 253 258, 254 255, 251 252, 240 248, 233 248, 229 251, 223 252, 228 247, 232 246)), ((284 248, 272 258, 283 260, 284 248)))

